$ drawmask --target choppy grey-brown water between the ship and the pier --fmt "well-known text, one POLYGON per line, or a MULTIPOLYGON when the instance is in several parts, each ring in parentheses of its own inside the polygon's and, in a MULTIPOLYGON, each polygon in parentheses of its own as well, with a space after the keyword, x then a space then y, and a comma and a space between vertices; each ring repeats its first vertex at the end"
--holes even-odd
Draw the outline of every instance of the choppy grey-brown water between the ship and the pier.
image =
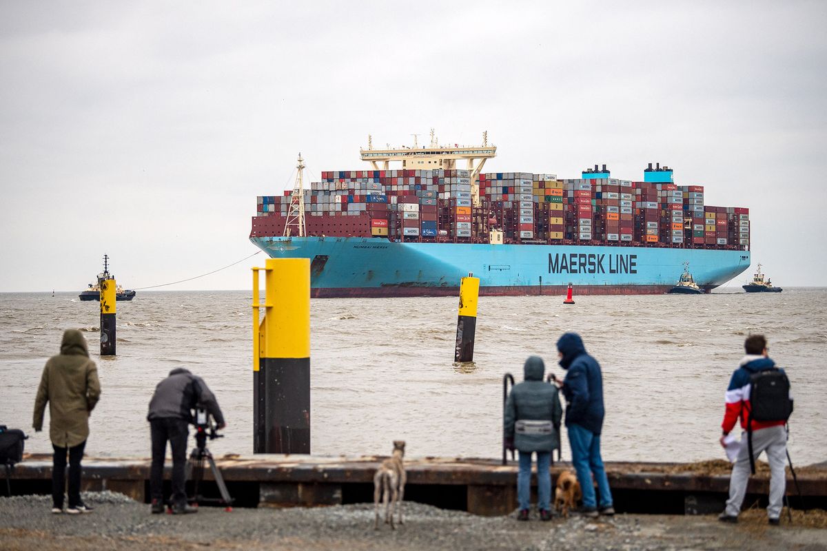
MULTIPOLYGON (((482 297, 476 365, 455 367, 456 298, 314 300, 313 454, 387 454, 405 439, 414 457, 499 457, 503 374, 521 380, 523 360, 539 354, 562 375, 554 343, 576 330, 604 370, 605 459, 723 458, 724 390, 750 332, 768 336, 791 378, 793 461, 827 459, 827 290, 576 301, 482 297)), ((89 455, 148 456, 146 406, 178 367, 203 376, 227 416, 213 453, 251 454, 250 305, 250 292, 141 292, 118 303, 117 357, 99 358, 97 302, 0 294, 0 424, 31 427, 43 364, 63 330, 79 328, 103 387, 89 455)), ((27 451, 50 451, 47 435, 31 432, 27 451)))

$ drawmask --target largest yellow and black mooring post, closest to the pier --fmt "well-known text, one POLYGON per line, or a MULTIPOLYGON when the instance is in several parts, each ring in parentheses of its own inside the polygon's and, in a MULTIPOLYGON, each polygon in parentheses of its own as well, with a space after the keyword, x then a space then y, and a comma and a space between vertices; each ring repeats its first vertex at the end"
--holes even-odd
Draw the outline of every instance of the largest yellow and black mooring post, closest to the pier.
POLYGON ((310 453, 310 259, 253 268, 253 401, 254 454, 310 453))

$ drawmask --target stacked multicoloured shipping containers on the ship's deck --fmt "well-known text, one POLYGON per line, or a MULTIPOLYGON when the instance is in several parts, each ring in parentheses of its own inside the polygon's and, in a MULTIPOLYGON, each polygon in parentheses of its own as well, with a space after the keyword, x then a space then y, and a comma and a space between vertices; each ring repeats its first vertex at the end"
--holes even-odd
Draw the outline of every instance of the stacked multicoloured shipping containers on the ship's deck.
MULTIPOLYGON (((706 206, 702 186, 672 183, 659 164, 643 175, 480 173, 475 206, 467 170, 323 172, 304 210, 308 235, 487 243, 501 230, 507 244, 749 249, 747 208, 706 206)), ((251 236, 283 235, 290 195, 258 197, 251 236)))

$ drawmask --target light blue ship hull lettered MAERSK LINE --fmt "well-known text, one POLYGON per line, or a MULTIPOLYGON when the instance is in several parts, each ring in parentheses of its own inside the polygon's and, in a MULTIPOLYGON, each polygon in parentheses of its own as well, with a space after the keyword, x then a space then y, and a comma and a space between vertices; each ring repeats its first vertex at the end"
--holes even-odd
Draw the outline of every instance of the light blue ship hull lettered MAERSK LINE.
POLYGON ((311 261, 313 297, 456 295, 460 279, 480 278, 480 295, 660 294, 689 262, 709 292, 749 268, 749 251, 399 243, 365 237, 252 237, 274 259, 311 261))

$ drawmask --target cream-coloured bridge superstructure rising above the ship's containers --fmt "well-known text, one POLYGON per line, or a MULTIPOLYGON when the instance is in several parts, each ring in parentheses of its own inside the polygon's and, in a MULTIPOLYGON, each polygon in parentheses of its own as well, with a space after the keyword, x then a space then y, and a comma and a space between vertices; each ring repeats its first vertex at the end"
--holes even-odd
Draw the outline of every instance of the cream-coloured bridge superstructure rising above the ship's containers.
POLYGON ((452 170, 465 169, 471 179, 471 199, 475 207, 480 206, 480 172, 485 161, 497 155, 496 145, 488 144, 488 132, 482 133, 481 145, 439 145, 431 129, 431 143, 426 147, 418 145, 418 135, 414 134, 412 147, 392 148, 388 145, 384 150, 373 147, 372 136, 368 135, 367 149, 360 148, 361 159, 370 163, 375 170, 390 169, 390 163, 401 163, 402 169, 408 170, 452 170), (462 166, 463 161, 465 166, 462 166), (380 167, 381 163, 381 167, 380 167))

